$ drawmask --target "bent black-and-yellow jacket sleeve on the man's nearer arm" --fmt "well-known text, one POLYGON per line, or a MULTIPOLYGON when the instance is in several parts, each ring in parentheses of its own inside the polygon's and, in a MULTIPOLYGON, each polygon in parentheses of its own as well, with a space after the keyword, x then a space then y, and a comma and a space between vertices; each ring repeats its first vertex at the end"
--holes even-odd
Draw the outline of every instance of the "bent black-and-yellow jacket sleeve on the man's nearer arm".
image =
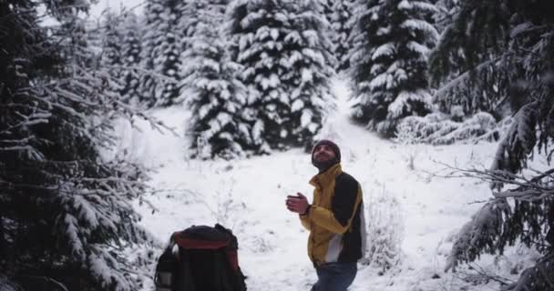
POLYGON ((335 234, 344 234, 361 202, 358 182, 351 176, 340 176, 335 183, 331 209, 312 206, 308 216, 318 226, 335 234))

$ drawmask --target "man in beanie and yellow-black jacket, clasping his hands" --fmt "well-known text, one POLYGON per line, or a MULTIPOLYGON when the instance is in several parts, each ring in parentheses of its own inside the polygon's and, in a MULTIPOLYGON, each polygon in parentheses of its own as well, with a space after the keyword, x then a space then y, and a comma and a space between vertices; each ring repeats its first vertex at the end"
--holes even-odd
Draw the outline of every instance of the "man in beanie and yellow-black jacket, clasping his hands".
POLYGON ((312 164, 319 169, 310 184, 313 203, 305 196, 287 196, 287 208, 300 215, 310 231, 308 256, 318 281, 313 291, 345 291, 354 282, 356 262, 364 255, 365 223, 362 188, 341 168, 341 151, 330 140, 313 146, 312 164))

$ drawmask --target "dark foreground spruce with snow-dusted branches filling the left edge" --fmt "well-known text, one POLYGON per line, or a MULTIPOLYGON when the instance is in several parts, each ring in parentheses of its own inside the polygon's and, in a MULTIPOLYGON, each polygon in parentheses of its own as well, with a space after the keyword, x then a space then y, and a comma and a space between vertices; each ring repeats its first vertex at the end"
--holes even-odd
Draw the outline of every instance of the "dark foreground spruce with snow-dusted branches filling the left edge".
POLYGON ((0 273, 17 290, 137 290, 123 248, 151 241, 130 203, 142 171, 99 154, 132 112, 89 70, 86 4, 0 3, 0 273), (38 25, 45 11, 61 25, 38 25))

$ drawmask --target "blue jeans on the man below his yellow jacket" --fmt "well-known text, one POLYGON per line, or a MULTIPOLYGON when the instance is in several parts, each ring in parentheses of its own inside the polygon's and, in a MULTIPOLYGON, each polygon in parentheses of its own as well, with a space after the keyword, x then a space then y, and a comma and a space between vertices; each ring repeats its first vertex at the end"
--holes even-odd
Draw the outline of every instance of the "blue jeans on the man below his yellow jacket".
POLYGON ((317 282, 312 291, 346 291, 358 272, 356 263, 324 263, 315 268, 317 282))

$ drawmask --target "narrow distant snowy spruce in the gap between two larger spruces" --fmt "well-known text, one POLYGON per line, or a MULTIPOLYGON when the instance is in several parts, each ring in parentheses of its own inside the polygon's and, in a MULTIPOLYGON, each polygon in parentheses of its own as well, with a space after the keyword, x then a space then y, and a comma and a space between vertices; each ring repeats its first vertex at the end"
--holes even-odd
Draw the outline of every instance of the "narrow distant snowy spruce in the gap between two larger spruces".
POLYGON ((352 47, 350 35, 352 33, 354 0, 337 0, 333 4, 333 14, 331 15, 330 31, 333 34, 330 37, 333 44, 333 55, 337 62, 335 70, 343 72, 350 67, 349 51, 352 47))

